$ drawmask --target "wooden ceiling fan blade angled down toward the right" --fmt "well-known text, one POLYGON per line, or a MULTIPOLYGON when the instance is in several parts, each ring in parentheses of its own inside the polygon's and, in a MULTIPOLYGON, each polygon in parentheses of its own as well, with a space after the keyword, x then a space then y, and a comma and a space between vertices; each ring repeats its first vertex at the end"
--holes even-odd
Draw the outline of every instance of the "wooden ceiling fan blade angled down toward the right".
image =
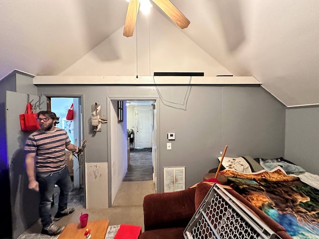
POLYGON ((181 13, 170 0, 153 0, 163 12, 169 16, 181 29, 186 28, 190 21, 181 13))

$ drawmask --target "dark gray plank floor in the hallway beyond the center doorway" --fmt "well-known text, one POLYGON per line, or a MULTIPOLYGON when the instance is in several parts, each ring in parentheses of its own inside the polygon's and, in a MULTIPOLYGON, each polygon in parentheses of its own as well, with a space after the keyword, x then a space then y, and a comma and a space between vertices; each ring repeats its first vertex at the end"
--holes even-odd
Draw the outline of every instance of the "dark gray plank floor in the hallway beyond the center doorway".
POLYGON ((136 148, 130 153, 130 164, 123 181, 135 182, 149 180, 153 180, 152 148, 136 148))

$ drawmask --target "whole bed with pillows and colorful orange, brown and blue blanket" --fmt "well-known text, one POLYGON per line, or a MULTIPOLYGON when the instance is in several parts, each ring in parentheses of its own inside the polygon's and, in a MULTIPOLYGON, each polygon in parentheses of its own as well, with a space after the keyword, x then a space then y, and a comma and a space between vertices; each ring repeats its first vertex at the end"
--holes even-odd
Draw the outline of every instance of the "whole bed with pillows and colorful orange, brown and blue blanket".
MULTIPOLYGON (((219 158, 220 160, 220 158, 219 158)), ((319 176, 282 157, 223 158, 228 184, 294 239, 319 239, 319 176)))

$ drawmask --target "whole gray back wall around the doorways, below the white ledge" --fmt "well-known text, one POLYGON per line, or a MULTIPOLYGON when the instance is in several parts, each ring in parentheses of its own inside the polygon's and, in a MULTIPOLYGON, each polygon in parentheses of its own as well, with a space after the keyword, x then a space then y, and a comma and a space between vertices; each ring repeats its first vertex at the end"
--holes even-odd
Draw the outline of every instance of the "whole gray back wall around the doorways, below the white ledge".
MULTIPOLYGON (((188 187, 202 180, 209 169, 217 167, 217 157, 226 144, 226 156, 284 155, 285 107, 261 87, 193 86, 187 110, 166 106, 172 105, 169 102, 182 104, 186 90, 187 87, 180 86, 159 87, 164 99, 160 103, 159 192, 163 191, 163 167, 185 166, 185 186, 188 187), (166 150, 168 132, 176 134, 172 150, 166 150)), ((84 138, 89 140, 87 162, 108 160, 106 125, 102 125, 101 133, 90 132, 91 104, 101 104, 102 115, 107 115, 107 97, 132 100, 158 96, 156 88, 148 86, 39 86, 38 93, 83 96, 84 138)))

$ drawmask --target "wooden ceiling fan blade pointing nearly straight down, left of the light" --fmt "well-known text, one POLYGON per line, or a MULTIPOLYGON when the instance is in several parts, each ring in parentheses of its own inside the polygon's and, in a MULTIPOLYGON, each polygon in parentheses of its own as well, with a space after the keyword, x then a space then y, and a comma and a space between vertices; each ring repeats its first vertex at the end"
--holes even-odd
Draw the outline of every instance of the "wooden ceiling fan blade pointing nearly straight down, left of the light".
POLYGON ((126 19, 124 24, 123 35, 126 37, 133 36, 136 18, 139 12, 140 1, 131 0, 129 2, 128 11, 126 13, 126 19))

